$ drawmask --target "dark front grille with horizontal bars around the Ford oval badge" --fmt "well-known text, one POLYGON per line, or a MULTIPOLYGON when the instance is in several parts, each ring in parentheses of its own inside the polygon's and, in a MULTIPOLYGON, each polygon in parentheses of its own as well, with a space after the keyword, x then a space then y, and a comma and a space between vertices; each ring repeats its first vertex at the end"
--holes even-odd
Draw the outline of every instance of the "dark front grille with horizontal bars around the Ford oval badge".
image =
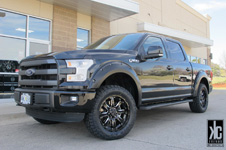
POLYGON ((25 60, 20 64, 19 85, 21 88, 57 88, 57 64, 55 59, 25 60), (26 75, 32 69, 34 74, 26 75))

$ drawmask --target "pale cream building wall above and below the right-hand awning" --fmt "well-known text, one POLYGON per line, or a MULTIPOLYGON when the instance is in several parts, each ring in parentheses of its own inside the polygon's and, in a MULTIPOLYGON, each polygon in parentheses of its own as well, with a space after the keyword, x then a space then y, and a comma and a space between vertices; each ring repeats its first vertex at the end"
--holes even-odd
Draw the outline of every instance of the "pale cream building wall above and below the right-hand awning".
MULTIPOLYGON (((134 33, 137 24, 148 22, 194 35, 209 38, 209 20, 181 0, 135 0, 140 4, 139 14, 110 23, 111 35, 134 33)), ((207 59, 207 47, 185 48, 188 55, 207 59)))

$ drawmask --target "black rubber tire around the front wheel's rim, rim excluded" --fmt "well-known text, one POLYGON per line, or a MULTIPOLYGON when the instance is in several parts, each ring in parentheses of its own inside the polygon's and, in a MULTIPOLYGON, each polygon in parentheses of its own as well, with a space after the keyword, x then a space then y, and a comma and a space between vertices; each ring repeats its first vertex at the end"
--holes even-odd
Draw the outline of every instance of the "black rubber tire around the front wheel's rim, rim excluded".
MULTIPOLYGON (((120 99, 120 98, 119 98, 120 99)), ((95 104, 92 108, 91 113, 86 114, 85 117, 85 124, 87 129, 96 137, 102 138, 105 140, 115 140, 124 137, 127 135, 130 130, 132 129, 135 119, 136 119, 136 104, 134 101, 133 96, 130 92, 128 92, 125 88, 117 86, 117 85, 107 85, 101 87, 96 94, 95 97, 95 104), (129 111, 128 111, 128 120, 126 123, 124 123, 124 126, 118 131, 109 131, 110 127, 106 127, 103 125, 103 122, 101 122, 101 110, 103 110, 102 106, 106 106, 107 99, 109 97, 114 97, 115 100, 116 97, 119 96, 125 101, 124 104, 128 105, 129 111), (106 103, 105 103, 106 102, 106 103), (105 104, 103 104, 105 103, 105 104)), ((111 105, 111 101, 110 101, 111 105)), ((120 105, 121 107, 121 105, 120 105)), ((105 108, 105 107, 104 107, 105 108)), ((113 108, 113 107, 107 107, 107 108, 113 108)), ((108 110, 108 109, 106 109, 108 110)), ((116 110, 117 111, 117 110, 116 110)), ((109 114, 109 113, 108 113, 109 114)), ((113 118, 113 117, 112 117, 113 118)), ((111 119, 112 119, 111 118, 111 119)), ((109 119, 109 118, 108 118, 109 119)), ((106 119, 107 120, 107 119, 106 119)), ((116 119, 115 119, 116 120, 116 119)), ((111 121, 111 120, 110 120, 111 121)), ((111 126, 111 130, 113 130, 113 124, 112 122, 108 122, 107 124, 111 126)), ((120 123, 119 123, 120 125, 120 123)))

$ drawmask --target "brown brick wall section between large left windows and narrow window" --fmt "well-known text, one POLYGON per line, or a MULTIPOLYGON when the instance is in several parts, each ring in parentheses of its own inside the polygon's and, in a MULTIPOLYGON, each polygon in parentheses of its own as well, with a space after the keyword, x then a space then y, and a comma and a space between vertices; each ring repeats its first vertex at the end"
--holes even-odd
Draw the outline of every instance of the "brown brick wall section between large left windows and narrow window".
POLYGON ((53 7, 52 51, 76 49, 77 12, 64 7, 53 7))

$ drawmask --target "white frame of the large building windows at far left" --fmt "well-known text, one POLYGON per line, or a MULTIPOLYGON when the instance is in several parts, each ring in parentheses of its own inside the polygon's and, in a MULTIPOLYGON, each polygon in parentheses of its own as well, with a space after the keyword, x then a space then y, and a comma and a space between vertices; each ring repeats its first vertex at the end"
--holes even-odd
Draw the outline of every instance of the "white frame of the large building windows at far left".
POLYGON ((28 14, 25 14, 25 13, 19 13, 19 12, 16 12, 16 11, 13 11, 13 10, 9 10, 9 9, 5 9, 5 8, 2 8, 2 7, 0 7, 0 10, 7 11, 9 13, 14 13, 14 14, 26 16, 26 33, 25 33, 25 37, 12 36, 12 35, 7 35, 7 34, 1 34, 0 33, 0 36, 2 36, 2 37, 8 37, 8 38, 25 40, 25 56, 24 57, 27 57, 27 56, 30 55, 30 42, 39 43, 39 44, 48 44, 48 53, 52 52, 52 20, 46 19, 46 18, 42 18, 42 17, 38 17, 38 16, 35 16, 35 15, 28 15, 28 14), (49 21, 49 40, 48 41, 47 40, 40 40, 40 39, 29 38, 28 30, 29 30, 29 18, 30 17, 36 18, 36 19, 40 19, 40 20, 44 20, 44 21, 49 21))

